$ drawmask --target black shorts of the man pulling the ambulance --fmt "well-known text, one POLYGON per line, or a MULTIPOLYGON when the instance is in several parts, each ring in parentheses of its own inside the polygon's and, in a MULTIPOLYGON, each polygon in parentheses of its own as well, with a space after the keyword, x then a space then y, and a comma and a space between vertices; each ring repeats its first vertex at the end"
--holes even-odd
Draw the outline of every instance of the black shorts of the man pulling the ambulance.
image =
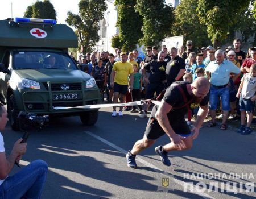
MULTIPOLYGON (((188 126, 187 122, 185 121, 185 119, 183 121, 179 122, 179 126, 188 126)), ((188 137, 191 136, 191 132, 179 132, 179 130, 175 130, 176 134, 184 136, 184 137, 188 137)), ((163 136, 164 134, 166 134, 166 132, 164 132, 163 128, 159 125, 158 121, 156 121, 156 119, 150 117, 148 119, 147 122, 147 127, 145 130, 144 135, 146 136, 147 139, 150 140, 156 140, 158 138, 160 138, 161 136, 163 136)))

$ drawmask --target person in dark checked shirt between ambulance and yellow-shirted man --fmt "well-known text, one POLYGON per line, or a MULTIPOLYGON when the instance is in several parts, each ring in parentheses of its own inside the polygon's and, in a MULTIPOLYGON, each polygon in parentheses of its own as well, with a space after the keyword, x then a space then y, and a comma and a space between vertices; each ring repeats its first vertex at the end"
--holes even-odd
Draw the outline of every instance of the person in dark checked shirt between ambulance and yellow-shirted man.
POLYGON ((102 64, 103 64, 103 60, 101 58, 98 59, 98 65, 96 65, 92 68, 92 72, 90 73, 90 75, 94 77, 98 88, 103 93, 108 77, 106 75, 105 67, 102 64))

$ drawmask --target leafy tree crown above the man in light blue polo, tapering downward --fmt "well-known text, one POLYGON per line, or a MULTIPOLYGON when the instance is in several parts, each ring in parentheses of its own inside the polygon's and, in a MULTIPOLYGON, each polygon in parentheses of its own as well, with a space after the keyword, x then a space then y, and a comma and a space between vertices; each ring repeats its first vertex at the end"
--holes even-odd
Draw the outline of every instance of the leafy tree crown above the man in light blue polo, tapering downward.
POLYGON ((214 47, 228 37, 241 14, 249 6, 250 0, 199 0, 197 15, 201 24, 207 26, 207 33, 214 47))

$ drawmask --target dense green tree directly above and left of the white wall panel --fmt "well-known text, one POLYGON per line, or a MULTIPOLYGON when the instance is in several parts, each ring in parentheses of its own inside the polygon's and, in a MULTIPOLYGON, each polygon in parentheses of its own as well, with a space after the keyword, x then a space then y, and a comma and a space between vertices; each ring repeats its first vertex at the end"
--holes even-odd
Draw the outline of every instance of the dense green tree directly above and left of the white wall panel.
POLYGON ((143 19, 141 45, 158 45, 168 34, 174 21, 174 8, 165 0, 137 0, 135 10, 143 19))

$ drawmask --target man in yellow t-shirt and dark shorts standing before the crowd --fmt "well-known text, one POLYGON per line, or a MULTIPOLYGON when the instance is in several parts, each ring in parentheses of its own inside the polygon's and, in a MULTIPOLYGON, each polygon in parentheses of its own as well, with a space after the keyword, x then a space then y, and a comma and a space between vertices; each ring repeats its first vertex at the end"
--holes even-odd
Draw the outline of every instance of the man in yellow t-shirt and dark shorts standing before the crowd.
MULTIPOLYGON (((125 52, 120 53, 121 61, 117 61, 113 65, 110 76, 110 86, 114 87, 113 103, 118 102, 119 93, 121 103, 125 103, 125 95, 128 90, 128 77, 130 76, 129 89, 133 90, 133 66, 127 62, 127 55, 125 52)), ((119 116, 123 116, 122 107, 120 107, 119 116)), ((113 107, 112 117, 117 116, 116 107, 113 107)))

